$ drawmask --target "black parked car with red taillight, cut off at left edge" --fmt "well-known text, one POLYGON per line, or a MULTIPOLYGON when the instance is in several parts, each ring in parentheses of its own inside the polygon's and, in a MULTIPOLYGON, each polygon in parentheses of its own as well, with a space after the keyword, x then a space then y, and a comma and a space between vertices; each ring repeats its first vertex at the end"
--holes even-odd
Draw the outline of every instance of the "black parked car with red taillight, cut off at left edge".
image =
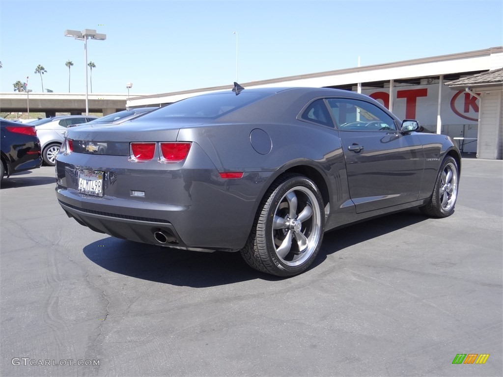
POLYGON ((4 175, 31 170, 42 165, 40 140, 34 126, 0 118, 0 181, 4 175))

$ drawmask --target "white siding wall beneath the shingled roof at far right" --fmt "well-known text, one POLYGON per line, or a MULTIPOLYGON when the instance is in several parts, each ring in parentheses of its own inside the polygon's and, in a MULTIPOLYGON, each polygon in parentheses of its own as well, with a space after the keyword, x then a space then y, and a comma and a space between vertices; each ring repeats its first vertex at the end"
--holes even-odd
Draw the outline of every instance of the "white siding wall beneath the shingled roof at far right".
POLYGON ((477 143, 478 158, 501 158, 501 92, 501 89, 485 89, 481 92, 482 101, 480 104, 477 143))

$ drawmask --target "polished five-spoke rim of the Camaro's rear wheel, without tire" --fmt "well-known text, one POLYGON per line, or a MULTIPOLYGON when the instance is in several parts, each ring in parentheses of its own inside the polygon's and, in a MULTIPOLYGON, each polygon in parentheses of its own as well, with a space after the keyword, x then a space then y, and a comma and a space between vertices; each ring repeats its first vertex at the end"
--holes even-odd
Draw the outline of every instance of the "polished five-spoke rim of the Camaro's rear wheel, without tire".
POLYGON ((321 236, 321 215, 314 194, 303 186, 290 189, 274 212, 272 229, 276 255, 288 266, 309 259, 321 236))

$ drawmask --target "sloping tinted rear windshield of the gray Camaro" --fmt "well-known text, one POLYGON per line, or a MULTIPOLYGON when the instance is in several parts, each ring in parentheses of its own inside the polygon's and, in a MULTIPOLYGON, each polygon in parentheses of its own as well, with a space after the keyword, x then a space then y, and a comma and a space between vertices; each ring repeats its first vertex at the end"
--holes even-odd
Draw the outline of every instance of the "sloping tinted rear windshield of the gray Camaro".
POLYGON ((242 91, 236 96, 233 92, 215 93, 187 98, 169 106, 160 108, 153 113, 146 114, 146 118, 209 118, 215 119, 257 102, 270 96, 272 93, 242 91))

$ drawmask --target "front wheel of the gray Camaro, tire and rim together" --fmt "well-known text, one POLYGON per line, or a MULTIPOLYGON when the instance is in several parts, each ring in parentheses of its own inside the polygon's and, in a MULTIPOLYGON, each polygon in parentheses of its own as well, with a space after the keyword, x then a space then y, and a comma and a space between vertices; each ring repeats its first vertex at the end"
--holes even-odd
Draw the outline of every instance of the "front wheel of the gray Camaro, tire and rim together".
POLYGON ((437 176, 433 194, 421 212, 431 217, 447 217, 454 213, 458 197, 459 168, 456 160, 446 156, 437 176))

